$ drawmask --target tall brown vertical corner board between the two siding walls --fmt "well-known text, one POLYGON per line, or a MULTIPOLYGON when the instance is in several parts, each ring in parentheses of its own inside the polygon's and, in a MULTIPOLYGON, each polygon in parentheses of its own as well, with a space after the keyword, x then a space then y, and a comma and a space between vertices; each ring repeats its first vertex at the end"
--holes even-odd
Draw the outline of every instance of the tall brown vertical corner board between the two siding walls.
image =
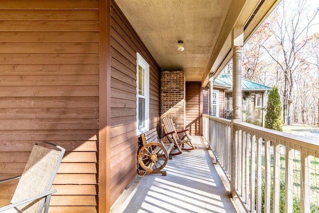
POLYGON ((111 209, 111 1, 99 0, 98 212, 111 209))

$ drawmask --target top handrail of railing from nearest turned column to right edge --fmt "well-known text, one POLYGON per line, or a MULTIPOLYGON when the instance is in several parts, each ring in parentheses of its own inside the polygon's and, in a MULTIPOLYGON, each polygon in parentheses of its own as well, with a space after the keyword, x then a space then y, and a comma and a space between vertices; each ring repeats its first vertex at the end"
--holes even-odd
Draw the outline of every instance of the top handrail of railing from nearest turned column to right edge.
POLYGON ((264 127, 259 127, 256 125, 248 124, 241 121, 233 120, 233 125, 248 129, 260 134, 268 135, 272 138, 276 138, 283 141, 288 141, 289 143, 293 143, 299 146, 307 147, 316 151, 319 151, 319 140, 303 137, 299 135, 293 135, 285 132, 280 132, 272 129, 267 129, 264 127))

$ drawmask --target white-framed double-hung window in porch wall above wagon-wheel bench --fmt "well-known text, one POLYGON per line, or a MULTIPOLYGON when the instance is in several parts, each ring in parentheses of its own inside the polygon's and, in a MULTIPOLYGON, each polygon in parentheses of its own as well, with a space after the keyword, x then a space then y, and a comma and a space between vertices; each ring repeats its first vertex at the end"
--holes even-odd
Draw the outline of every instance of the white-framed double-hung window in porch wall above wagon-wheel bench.
POLYGON ((137 53, 137 135, 149 130, 150 65, 137 53))

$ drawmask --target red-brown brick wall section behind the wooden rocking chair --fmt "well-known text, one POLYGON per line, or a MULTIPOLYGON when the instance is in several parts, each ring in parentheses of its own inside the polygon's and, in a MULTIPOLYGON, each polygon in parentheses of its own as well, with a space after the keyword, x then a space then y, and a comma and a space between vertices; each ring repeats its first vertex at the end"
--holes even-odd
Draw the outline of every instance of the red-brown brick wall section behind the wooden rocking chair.
POLYGON ((185 79, 184 71, 161 71, 160 118, 170 117, 177 131, 185 125, 185 79))

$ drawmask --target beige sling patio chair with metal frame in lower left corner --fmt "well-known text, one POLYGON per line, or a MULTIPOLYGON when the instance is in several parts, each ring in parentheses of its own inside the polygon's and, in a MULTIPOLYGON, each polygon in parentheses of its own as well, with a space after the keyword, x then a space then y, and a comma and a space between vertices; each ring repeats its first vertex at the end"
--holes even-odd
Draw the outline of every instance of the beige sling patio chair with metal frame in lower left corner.
MULTIPOLYGON (((45 145, 45 146, 46 146, 45 145)), ((65 149, 48 142, 35 144, 21 176, 1 180, 0 183, 19 179, 11 204, 0 208, 5 213, 48 212, 51 190, 55 175, 62 161, 65 149), (53 146, 49 149, 40 144, 53 146)))

